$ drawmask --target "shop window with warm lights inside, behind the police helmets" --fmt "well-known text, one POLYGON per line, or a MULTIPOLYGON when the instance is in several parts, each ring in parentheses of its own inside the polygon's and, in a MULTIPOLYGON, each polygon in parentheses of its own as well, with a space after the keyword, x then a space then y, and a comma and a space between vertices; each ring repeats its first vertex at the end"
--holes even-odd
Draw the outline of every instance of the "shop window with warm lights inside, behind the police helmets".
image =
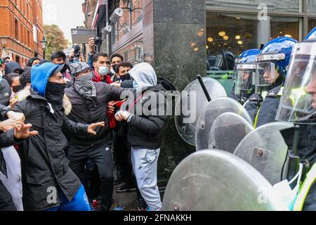
POLYGON ((231 58, 247 49, 258 49, 276 37, 299 39, 299 21, 299 18, 268 16, 267 20, 258 20, 256 15, 207 14, 208 70, 233 70, 231 58))

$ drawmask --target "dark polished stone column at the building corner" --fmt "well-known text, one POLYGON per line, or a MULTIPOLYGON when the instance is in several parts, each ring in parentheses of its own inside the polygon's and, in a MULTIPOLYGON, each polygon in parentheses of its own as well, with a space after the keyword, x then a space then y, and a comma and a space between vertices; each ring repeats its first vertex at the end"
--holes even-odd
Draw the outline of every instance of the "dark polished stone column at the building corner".
MULTIPOLYGON (((143 0, 143 6, 144 59, 182 91, 197 75, 206 75, 205 0, 143 0)), ((159 169, 164 169, 167 155, 180 162, 194 150, 170 117, 159 169)))

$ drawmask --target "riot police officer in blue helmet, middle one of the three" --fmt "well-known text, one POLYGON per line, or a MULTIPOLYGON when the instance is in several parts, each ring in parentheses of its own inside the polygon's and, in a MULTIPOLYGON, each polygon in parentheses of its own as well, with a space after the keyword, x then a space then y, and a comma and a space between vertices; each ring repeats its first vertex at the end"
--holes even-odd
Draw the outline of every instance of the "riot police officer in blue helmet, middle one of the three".
POLYGON ((267 88, 268 94, 258 110, 254 127, 275 121, 291 52, 296 43, 296 40, 289 37, 278 37, 266 44, 257 56, 256 92, 262 93, 263 88, 267 88))

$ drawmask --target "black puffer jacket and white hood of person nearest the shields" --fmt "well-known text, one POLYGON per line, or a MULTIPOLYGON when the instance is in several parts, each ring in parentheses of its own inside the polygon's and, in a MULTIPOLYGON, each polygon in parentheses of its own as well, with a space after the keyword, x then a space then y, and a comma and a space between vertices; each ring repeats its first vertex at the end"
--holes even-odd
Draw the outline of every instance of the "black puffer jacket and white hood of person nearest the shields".
MULTIPOLYGON (((171 103, 173 84, 167 79, 158 78, 151 65, 140 63, 130 71, 131 77, 146 91, 134 96, 133 100, 122 105, 121 110, 132 114, 127 122, 127 139, 135 148, 157 149, 162 146, 162 136, 168 119, 167 105, 171 103), (155 86, 150 86, 156 84, 155 86), (128 106, 127 106, 128 105, 128 106)), ((172 113, 172 110, 171 112, 172 113)))

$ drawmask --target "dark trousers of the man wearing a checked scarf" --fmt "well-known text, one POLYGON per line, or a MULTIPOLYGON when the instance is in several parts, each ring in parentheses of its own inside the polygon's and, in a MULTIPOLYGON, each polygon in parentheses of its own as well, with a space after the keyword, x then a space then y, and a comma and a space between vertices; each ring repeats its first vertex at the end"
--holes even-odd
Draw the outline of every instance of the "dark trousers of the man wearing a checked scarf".
MULTIPOLYGON (((92 160, 98 167, 100 175, 101 210, 110 210, 114 188, 113 180, 113 156, 110 146, 79 146, 70 143, 68 152, 70 168, 81 179, 82 184, 88 184, 86 180, 86 162, 92 160)), ((87 188, 88 189, 88 188, 87 188)))

